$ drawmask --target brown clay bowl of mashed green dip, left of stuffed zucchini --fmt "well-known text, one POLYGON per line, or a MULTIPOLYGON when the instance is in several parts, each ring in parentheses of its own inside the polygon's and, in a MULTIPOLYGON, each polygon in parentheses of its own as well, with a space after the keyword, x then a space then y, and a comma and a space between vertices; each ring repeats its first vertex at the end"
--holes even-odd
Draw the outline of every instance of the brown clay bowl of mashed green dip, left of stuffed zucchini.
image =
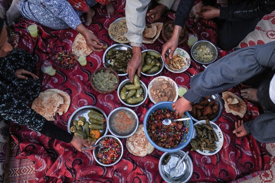
POLYGON ((91 86, 98 93, 112 93, 117 89, 118 85, 118 74, 113 68, 98 68, 92 74, 91 86))

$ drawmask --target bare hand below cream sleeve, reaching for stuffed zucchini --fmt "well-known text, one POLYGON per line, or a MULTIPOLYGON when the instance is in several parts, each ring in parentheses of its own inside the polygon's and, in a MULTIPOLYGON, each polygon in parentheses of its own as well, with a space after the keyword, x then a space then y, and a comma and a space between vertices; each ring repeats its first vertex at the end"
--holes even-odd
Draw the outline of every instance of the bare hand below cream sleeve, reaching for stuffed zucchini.
POLYGON ((131 82, 134 82, 135 71, 137 71, 137 75, 140 77, 141 68, 142 68, 141 49, 140 47, 133 46, 133 56, 130 59, 130 61, 128 61, 127 70, 126 70, 131 82))

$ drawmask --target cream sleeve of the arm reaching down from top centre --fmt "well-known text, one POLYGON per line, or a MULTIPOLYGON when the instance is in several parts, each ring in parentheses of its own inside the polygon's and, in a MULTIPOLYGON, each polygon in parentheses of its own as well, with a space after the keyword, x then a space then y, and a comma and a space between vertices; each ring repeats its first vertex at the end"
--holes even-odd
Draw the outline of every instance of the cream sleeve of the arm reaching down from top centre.
POLYGON ((150 0, 126 1, 126 24, 128 32, 124 35, 129 39, 132 46, 142 46, 142 32, 145 28, 145 16, 150 0))

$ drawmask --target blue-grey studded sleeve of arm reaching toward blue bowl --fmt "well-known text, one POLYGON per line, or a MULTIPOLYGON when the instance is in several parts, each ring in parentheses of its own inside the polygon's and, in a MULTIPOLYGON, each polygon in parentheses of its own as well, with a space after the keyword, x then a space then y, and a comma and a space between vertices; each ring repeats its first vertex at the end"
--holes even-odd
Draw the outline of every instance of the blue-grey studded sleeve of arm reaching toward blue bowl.
POLYGON ((220 93, 248 80, 266 67, 275 70, 274 50, 275 41, 243 48, 224 56, 191 79, 191 88, 184 94, 184 98, 197 102, 202 96, 220 93))

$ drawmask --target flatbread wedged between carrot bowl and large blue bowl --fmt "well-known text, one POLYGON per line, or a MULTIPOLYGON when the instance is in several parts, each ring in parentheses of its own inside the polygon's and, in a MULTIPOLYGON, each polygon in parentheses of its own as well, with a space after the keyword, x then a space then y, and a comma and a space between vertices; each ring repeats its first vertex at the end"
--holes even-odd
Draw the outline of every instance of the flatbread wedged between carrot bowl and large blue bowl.
POLYGON ((142 124, 138 125, 137 131, 127 138, 126 148, 133 155, 141 157, 152 153, 155 149, 147 140, 142 124))

